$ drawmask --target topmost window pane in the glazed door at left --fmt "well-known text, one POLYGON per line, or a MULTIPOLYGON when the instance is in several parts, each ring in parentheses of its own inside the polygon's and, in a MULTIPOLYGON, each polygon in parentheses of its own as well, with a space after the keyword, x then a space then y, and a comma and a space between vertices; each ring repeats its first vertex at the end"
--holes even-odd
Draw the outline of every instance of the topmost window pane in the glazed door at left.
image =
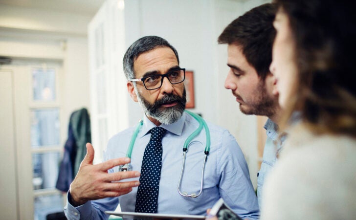
POLYGON ((56 74, 54 69, 35 68, 32 71, 33 99, 52 101, 56 99, 56 74))

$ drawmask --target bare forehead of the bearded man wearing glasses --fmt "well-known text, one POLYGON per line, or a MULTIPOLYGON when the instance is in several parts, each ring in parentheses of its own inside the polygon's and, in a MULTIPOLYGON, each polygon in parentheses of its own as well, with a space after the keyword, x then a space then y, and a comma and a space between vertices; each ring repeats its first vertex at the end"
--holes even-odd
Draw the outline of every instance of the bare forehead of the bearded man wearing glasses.
POLYGON ((169 47, 156 47, 140 54, 134 60, 136 78, 149 71, 165 73, 169 68, 178 66, 176 54, 169 47))

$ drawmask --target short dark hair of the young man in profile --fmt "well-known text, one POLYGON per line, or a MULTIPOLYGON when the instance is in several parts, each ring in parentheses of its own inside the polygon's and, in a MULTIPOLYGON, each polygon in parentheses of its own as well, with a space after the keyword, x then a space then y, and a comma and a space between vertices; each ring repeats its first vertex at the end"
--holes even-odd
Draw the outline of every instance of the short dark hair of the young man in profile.
POLYGON ((276 31, 273 21, 276 7, 267 3, 255 7, 232 21, 218 38, 219 44, 242 46, 247 62, 265 79, 272 62, 272 45, 276 31))

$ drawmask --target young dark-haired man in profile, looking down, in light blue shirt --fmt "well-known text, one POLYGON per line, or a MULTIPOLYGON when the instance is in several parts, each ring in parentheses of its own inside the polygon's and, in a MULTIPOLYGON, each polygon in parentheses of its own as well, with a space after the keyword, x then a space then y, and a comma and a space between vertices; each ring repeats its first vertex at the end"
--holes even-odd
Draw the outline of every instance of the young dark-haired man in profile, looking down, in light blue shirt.
POLYGON ((231 89, 240 110, 247 114, 265 115, 268 120, 263 162, 257 174, 257 197, 262 198, 264 179, 276 162, 276 153, 281 148, 278 142, 280 115, 275 77, 269 71, 272 61, 272 44, 275 37, 273 20, 276 9, 267 3, 255 7, 231 22, 219 36, 219 44, 227 45, 227 66, 230 70, 225 88, 231 89))

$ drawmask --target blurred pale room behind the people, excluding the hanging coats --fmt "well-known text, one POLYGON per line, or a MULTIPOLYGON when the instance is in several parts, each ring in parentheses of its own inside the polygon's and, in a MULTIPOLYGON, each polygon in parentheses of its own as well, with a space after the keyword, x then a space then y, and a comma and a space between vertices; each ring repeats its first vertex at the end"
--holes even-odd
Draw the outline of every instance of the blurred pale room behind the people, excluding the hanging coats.
MULTIPOLYGON (((56 189, 71 114, 85 108, 94 163, 115 133, 143 112, 127 94, 122 58, 157 35, 193 72, 193 112, 228 129, 257 186, 264 117, 246 116, 226 90, 223 28, 270 0, 0 0, 0 219, 45 220, 61 212, 56 189)), ((82 146, 84 147, 84 146, 82 146)))

